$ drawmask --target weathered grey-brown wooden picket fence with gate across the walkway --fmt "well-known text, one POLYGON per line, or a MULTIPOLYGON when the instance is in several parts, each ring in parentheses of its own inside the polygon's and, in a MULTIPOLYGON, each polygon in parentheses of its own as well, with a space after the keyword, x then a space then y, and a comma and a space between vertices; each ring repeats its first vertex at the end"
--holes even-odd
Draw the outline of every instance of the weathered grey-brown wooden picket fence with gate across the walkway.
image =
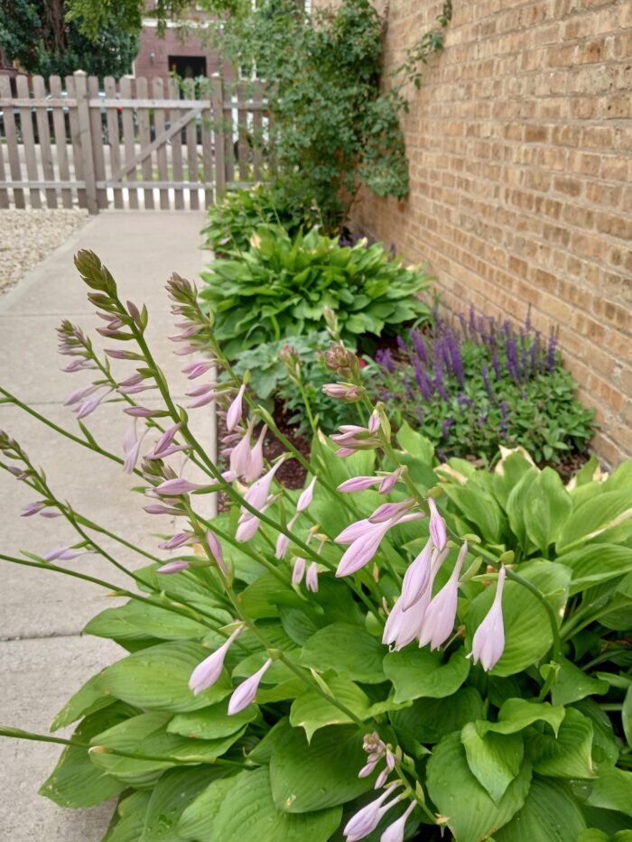
POLYGON ((208 208, 264 180, 261 82, 0 76, 0 208, 208 208), (150 90, 151 88, 151 90, 150 90))

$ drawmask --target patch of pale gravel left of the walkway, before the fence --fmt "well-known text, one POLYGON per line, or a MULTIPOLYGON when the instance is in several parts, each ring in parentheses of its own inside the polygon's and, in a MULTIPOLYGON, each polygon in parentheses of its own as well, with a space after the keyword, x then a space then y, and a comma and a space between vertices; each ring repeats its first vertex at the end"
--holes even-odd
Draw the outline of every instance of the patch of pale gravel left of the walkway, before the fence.
POLYGON ((0 210, 0 295, 87 221, 79 208, 0 210))

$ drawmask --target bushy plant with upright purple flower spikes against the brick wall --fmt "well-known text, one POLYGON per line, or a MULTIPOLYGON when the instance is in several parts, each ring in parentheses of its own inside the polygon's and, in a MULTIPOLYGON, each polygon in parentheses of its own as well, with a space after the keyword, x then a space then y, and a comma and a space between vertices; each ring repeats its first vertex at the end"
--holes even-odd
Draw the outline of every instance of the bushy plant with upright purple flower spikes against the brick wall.
POLYGON ((398 348, 378 351, 376 393, 398 421, 418 427, 441 453, 493 460, 500 445, 524 447, 536 462, 584 453, 595 412, 575 398, 577 385, 552 335, 543 340, 527 319, 510 322, 438 316, 434 331, 412 330, 398 348))

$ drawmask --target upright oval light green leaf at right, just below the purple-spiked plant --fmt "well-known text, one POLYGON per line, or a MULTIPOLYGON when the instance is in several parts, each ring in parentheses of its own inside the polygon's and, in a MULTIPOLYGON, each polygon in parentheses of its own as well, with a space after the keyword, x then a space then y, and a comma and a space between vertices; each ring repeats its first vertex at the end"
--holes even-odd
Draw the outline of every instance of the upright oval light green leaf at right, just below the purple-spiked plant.
POLYGON ((547 556, 572 513, 572 498, 557 471, 545 467, 530 487, 525 500, 525 529, 535 546, 547 556))

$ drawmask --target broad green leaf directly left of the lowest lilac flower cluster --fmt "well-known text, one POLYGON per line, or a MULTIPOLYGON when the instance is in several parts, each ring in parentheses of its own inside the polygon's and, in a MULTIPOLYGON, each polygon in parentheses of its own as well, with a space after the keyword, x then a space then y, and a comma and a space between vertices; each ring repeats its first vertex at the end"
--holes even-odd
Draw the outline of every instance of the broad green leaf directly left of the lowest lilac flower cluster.
POLYGON ((321 728, 309 744, 301 728, 287 727, 270 761, 274 803, 291 813, 344 804, 372 787, 372 779, 358 778, 365 763, 357 726, 321 728))

